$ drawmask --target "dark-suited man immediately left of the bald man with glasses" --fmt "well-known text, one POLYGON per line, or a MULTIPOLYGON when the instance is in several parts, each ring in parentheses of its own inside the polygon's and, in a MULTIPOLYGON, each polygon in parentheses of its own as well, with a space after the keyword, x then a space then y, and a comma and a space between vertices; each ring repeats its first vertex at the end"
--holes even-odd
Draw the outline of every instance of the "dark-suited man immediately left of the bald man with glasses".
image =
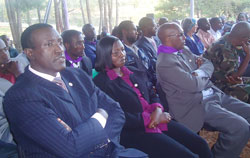
POLYGON ((149 17, 143 17, 139 21, 139 27, 142 30, 143 36, 136 42, 138 48, 143 50, 145 55, 150 60, 149 71, 153 74, 154 78, 152 83, 156 85, 156 73, 155 73, 155 64, 157 59, 157 42, 154 39, 157 25, 153 19, 149 17))

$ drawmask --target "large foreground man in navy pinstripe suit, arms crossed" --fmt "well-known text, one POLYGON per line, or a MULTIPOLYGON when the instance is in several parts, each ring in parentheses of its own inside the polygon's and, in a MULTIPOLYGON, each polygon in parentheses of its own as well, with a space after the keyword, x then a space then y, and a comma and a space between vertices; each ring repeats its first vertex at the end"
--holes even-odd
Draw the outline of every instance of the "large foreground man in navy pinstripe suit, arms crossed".
POLYGON ((84 71, 65 68, 62 38, 51 25, 29 26, 21 43, 30 66, 7 91, 4 110, 25 158, 145 156, 119 145, 123 111, 84 71))

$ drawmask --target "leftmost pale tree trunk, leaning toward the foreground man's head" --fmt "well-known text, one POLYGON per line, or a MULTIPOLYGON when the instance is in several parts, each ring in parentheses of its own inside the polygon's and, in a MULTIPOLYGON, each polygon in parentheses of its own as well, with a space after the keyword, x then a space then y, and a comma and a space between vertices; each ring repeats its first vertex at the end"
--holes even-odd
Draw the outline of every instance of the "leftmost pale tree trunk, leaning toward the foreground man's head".
MULTIPOLYGON (((17 3, 17 2, 16 2, 17 3)), ((20 26, 20 14, 19 10, 16 6, 13 6, 10 0, 5 0, 5 6, 7 10, 7 16, 9 19, 11 34, 13 37, 14 45, 16 49, 21 52, 21 42, 20 42, 20 34, 21 34, 21 26, 20 26), (19 18, 19 19, 17 19, 19 18)))

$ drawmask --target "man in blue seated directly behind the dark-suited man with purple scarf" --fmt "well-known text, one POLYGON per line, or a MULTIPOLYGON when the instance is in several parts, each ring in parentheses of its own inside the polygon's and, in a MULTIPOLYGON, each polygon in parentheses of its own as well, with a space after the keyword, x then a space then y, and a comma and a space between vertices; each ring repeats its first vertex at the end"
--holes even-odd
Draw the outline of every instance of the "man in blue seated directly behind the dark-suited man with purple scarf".
POLYGON ((91 24, 85 24, 82 27, 82 33, 85 35, 84 45, 85 45, 85 54, 92 62, 93 68, 95 67, 95 58, 96 58, 96 32, 95 28, 91 24))

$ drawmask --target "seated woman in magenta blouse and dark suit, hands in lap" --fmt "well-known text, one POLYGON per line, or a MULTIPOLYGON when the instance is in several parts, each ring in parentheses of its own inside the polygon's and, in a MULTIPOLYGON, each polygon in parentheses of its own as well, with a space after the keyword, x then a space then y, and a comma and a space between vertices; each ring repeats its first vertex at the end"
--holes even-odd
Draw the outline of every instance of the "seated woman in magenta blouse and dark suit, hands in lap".
POLYGON ((126 122, 121 144, 137 148, 150 158, 210 158, 211 151, 199 135, 191 132, 164 112, 145 72, 125 64, 121 41, 113 36, 97 45, 95 84, 119 102, 126 122))

